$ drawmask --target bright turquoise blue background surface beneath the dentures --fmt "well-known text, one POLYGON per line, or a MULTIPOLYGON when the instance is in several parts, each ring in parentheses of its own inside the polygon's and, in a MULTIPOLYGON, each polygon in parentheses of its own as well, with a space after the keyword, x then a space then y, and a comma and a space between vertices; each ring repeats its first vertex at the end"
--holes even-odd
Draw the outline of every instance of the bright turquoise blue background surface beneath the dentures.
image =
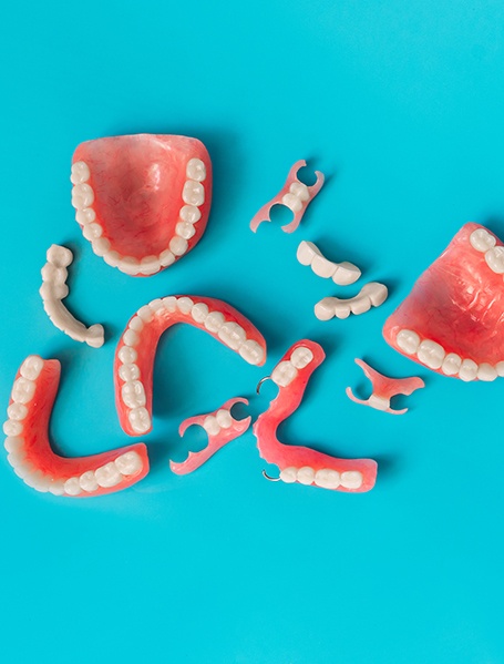
MULTIPOLYGON (((200 293, 264 331, 265 368, 187 327, 155 372, 153 469, 133 489, 64 500, 0 459, 2 662, 84 664, 496 664, 502 632, 502 384, 423 370, 381 338, 419 274, 466 221, 504 237, 504 6, 500 1, 44 2, 3 7, 0 398, 37 353, 63 381, 51 435, 65 454, 128 442, 112 390, 115 344, 154 297, 200 293), (133 279, 96 258, 73 221, 70 160, 99 136, 183 133, 215 167, 207 233, 179 264, 133 279), (290 165, 327 184, 302 226, 248 222, 290 165), (319 323, 344 293, 298 265, 311 239, 390 285, 380 309, 319 323), (51 243, 75 252, 69 307, 109 333, 100 350, 58 333, 38 288, 51 243), (249 432, 193 476, 205 441, 185 417, 254 388, 290 344, 328 359, 286 441, 379 460, 362 496, 264 480, 249 432), (401 418, 344 396, 354 357, 426 389, 401 418)), ((357 285, 348 289, 356 293, 357 285)))

